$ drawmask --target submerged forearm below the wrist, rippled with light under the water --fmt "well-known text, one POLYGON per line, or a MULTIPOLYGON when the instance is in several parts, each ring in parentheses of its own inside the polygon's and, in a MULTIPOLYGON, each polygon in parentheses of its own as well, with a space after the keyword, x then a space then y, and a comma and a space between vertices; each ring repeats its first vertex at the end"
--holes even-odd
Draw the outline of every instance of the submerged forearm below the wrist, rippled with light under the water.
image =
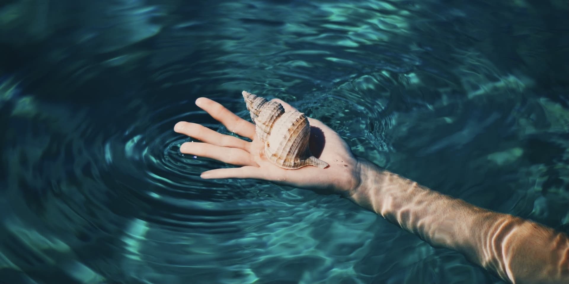
POLYGON ((457 250, 513 283, 569 283, 569 239, 551 228, 485 210, 362 161, 349 197, 435 247, 457 250))

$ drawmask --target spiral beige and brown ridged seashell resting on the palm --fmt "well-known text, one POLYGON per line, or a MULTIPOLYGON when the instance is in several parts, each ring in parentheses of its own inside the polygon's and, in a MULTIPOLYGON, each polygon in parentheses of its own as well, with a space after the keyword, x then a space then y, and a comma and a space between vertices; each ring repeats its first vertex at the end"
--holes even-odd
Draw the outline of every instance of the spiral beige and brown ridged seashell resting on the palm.
POLYGON ((243 91, 245 105, 255 123, 257 137, 265 144, 265 156, 273 164, 284 169, 303 166, 328 166, 310 153, 310 123, 302 112, 284 111, 278 102, 243 91))

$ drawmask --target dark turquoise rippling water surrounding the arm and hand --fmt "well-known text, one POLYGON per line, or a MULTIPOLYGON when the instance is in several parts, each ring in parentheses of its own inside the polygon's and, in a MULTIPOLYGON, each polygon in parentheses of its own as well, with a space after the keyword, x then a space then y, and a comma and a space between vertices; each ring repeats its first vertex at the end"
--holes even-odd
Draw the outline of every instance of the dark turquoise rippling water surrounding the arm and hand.
POLYGON ((566 1, 0 4, 0 283, 503 283, 335 195, 180 154, 281 98, 353 152, 569 232, 566 1))

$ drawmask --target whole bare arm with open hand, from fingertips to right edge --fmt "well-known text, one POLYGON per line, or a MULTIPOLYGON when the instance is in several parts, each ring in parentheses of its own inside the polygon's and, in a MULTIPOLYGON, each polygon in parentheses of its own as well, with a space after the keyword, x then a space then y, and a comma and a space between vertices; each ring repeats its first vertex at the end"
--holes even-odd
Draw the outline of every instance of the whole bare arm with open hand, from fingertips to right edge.
MULTIPOLYGON (((275 99, 286 111, 296 110, 275 99)), ((318 158, 329 166, 287 170, 266 159, 255 126, 208 98, 196 105, 246 141, 196 123, 179 122, 178 133, 201 142, 182 144, 180 152, 212 158, 236 168, 208 170, 201 178, 253 178, 340 194, 435 247, 463 253, 469 260, 512 283, 569 283, 569 237, 516 216, 473 206, 356 157, 345 141, 319 120, 309 118, 324 136, 318 158)), ((321 141, 311 137, 311 143, 321 141)), ((320 137, 321 138, 321 137, 320 137)), ((312 147, 311 147, 312 148, 312 147)))

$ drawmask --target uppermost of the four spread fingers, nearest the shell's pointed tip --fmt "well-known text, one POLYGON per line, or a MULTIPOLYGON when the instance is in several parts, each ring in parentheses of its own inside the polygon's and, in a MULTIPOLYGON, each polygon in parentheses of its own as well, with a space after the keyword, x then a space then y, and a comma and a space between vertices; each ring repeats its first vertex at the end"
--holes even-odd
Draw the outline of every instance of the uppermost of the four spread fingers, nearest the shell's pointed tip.
POLYGON ((220 103, 208 98, 197 98, 196 106, 205 110, 218 122, 221 122, 229 131, 251 140, 255 137, 255 124, 240 118, 220 103))

